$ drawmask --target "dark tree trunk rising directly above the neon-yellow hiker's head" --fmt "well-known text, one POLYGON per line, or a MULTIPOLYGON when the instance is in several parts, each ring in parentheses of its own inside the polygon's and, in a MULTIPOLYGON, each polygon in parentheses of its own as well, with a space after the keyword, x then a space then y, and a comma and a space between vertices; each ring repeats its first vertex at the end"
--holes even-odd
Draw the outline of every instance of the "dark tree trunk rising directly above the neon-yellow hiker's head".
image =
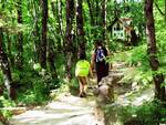
POLYGON ((83 30, 83 13, 82 13, 82 0, 77 0, 76 3, 76 31, 79 40, 79 52, 85 54, 85 38, 83 30))

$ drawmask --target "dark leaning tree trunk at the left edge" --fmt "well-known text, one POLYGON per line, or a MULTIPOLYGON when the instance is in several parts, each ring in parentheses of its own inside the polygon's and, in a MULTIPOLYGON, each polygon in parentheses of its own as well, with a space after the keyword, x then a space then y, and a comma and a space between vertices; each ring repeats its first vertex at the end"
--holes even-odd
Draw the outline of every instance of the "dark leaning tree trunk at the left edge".
POLYGON ((7 87, 9 97, 11 100, 15 100, 15 90, 11 86, 12 77, 11 77, 10 64, 9 64, 8 56, 3 50, 2 40, 3 40, 3 33, 2 33, 2 28, 0 28, 0 69, 2 70, 3 73, 4 85, 7 87))

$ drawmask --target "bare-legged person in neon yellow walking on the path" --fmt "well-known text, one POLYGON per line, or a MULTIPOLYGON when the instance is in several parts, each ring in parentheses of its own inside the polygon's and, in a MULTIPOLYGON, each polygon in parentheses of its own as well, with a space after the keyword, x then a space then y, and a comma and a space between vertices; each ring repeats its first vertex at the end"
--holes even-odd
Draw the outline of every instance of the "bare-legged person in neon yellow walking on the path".
POLYGON ((92 76, 90 63, 86 61, 85 54, 80 53, 79 61, 77 61, 76 67, 75 67, 75 76, 77 77, 79 84, 80 84, 80 93, 79 93, 80 97, 86 96, 85 85, 87 85, 89 74, 92 76))

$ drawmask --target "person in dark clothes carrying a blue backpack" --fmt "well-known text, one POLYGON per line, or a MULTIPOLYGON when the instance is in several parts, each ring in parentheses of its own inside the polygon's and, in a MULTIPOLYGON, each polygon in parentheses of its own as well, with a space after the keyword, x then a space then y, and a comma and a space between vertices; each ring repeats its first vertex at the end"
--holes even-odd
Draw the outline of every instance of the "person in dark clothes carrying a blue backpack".
POLYGON ((108 75, 110 64, 105 61, 110 54, 108 50, 103 45, 102 41, 95 42, 95 50, 92 54, 91 66, 92 70, 95 69, 97 76, 97 85, 102 77, 108 75))

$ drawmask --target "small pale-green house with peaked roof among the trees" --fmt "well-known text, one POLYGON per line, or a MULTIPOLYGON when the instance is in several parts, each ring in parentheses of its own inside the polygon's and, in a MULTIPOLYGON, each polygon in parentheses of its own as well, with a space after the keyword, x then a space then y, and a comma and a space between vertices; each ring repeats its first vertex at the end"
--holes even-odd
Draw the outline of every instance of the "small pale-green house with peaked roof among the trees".
POLYGON ((118 18, 115 19, 111 24, 111 32, 113 39, 120 39, 128 41, 132 31, 132 19, 131 18, 118 18))

